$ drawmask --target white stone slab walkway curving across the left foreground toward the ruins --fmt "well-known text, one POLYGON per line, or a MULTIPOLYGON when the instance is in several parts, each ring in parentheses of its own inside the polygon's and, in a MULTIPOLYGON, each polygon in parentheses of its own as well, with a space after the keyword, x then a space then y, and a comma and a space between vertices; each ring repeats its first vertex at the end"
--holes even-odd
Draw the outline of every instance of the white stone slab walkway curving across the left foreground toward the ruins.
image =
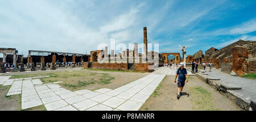
POLYGON ((117 89, 70 91, 60 85, 43 84, 38 78, 9 79, 0 76, 0 85, 11 85, 7 95, 22 94, 22 110, 44 104, 48 111, 137 111, 165 75, 152 73, 117 89))

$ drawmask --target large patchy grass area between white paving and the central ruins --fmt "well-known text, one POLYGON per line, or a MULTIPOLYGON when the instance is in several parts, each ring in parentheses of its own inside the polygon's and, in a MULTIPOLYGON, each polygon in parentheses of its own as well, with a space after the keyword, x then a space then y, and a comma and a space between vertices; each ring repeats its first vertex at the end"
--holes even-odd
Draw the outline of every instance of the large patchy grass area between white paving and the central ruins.
POLYGON ((109 76, 108 73, 88 72, 88 71, 64 71, 54 73, 38 73, 32 75, 16 75, 12 76, 12 79, 37 77, 37 76, 49 76, 43 77, 40 80, 43 83, 52 83, 57 81, 63 81, 59 85, 65 89, 72 91, 84 89, 86 85, 90 84, 109 84, 114 77, 109 76))

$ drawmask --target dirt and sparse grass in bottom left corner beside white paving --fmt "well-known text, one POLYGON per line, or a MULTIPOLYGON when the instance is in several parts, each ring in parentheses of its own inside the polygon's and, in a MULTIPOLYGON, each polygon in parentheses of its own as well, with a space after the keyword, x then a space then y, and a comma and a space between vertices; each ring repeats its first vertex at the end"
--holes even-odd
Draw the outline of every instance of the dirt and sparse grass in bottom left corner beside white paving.
POLYGON ((5 97, 10 86, 0 86, 0 111, 17 111, 19 109, 19 95, 5 97))

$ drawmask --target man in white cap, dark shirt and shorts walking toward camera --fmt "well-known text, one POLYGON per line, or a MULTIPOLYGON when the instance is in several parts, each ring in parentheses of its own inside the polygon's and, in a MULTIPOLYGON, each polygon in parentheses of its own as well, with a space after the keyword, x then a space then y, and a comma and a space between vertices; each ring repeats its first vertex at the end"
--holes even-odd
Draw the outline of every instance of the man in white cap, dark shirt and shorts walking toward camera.
POLYGON ((188 72, 187 72, 187 69, 184 68, 183 62, 180 63, 180 68, 177 69, 176 76, 174 79, 174 84, 176 84, 176 79, 178 75, 179 77, 177 82, 177 86, 178 86, 177 99, 179 99, 181 96, 181 91, 183 90, 185 81, 188 82, 188 72))

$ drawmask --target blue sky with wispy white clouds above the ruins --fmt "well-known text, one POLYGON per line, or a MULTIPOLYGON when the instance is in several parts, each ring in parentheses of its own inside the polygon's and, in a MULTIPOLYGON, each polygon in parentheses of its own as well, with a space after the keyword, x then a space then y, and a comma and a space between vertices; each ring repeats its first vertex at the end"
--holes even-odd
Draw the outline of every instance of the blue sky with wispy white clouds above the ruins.
POLYGON ((159 43, 159 53, 182 56, 185 46, 193 55, 239 39, 255 41, 255 6, 255 0, 0 0, 0 48, 24 56, 28 50, 89 54, 111 40, 127 47, 143 43, 147 27, 148 43, 159 43))

